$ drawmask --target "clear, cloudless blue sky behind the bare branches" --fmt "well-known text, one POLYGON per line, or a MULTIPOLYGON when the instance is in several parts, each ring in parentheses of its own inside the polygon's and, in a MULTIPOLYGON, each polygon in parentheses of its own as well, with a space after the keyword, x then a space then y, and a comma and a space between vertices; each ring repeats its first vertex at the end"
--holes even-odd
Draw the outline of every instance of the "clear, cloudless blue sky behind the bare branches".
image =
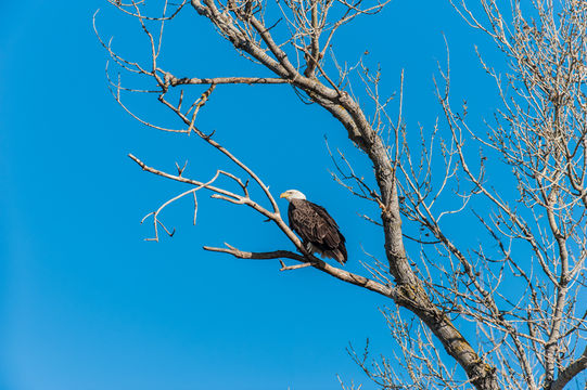
MULTIPOLYGON (((339 42, 348 42, 342 60, 369 50, 386 91, 397 90, 406 69, 413 131, 438 113, 432 75, 445 57, 443 31, 455 88, 469 90, 471 112, 487 112, 482 91, 490 83, 472 53, 486 38, 447 3, 395 0, 341 31, 339 42)), ((195 226, 183 202, 164 214, 177 229, 173 238, 143 240, 152 226, 141 218, 184 187, 142 172, 127 153, 165 169, 189 159, 186 173, 194 178, 228 165, 195 138, 145 129, 116 105, 91 28, 98 8, 103 35, 138 53, 142 47, 129 43, 143 38, 138 24, 105 1, 0 3, 0 389, 314 390, 337 389, 336 374, 366 381, 345 347, 369 337, 375 353, 391 351, 378 311, 383 299, 314 270, 280 273, 277 261, 201 249, 222 242, 291 249, 259 217, 201 197, 195 226)), ((205 20, 183 13, 165 64, 182 76, 229 76, 234 67, 255 74, 205 20)), ((132 102, 154 120, 169 119, 132 102)), ((380 255, 383 242, 356 211, 377 209, 330 179, 323 135, 369 169, 328 114, 286 87, 226 87, 200 126, 216 129, 276 194, 296 187, 324 205, 347 237, 347 268, 365 274, 361 245, 380 255)))

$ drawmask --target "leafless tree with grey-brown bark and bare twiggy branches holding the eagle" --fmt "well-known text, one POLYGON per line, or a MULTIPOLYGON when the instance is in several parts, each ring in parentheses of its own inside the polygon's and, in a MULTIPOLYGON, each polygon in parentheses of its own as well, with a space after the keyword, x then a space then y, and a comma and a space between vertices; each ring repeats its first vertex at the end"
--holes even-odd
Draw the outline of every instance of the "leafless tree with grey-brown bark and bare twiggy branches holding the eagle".
MULTIPOLYGON (((496 70, 480 54, 481 66, 495 79, 501 104, 486 129, 469 125, 467 106, 450 95, 450 66, 439 64, 436 81, 444 121, 420 129, 413 144, 403 119, 403 75, 394 114, 380 96, 379 72, 359 62, 341 65, 331 46, 337 29, 358 16, 379 13, 388 2, 363 0, 183 0, 150 4, 148 0, 109 0, 140 23, 150 47, 149 61, 133 61, 101 39, 115 64, 144 79, 141 88, 111 77, 116 101, 145 126, 195 133, 233 164, 209 180, 169 173, 129 155, 143 170, 190 185, 149 217, 155 237, 169 232, 159 212, 192 196, 194 219, 201 191, 263 214, 298 252, 268 248, 251 252, 227 244, 205 247, 242 259, 280 259, 281 270, 312 266, 343 282, 390 298, 383 312, 398 354, 371 359, 369 349, 349 353, 382 389, 549 389, 570 382, 584 386, 587 368, 585 260, 587 257, 587 3, 580 0, 481 0, 475 11, 452 3, 474 29, 488 36, 509 68, 496 70), (157 9, 158 8, 158 9, 157 9), (195 11, 195 13, 193 13, 195 11), (183 12, 203 17, 234 50, 270 77, 219 75, 178 77, 159 65, 165 26, 183 12), (359 105, 359 79, 369 105, 359 105), (227 145, 196 125, 199 110, 220 84, 285 84, 306 103, 326 108, 346 130, 348 140, 370 160, 373 172, 357 172, 344 154, 332 154, 334 178, 354 195, 374 203, 386 261, 365 262, 368 276, 333 266, 309 253, 282 218, 273 194, 227 145), (184 99, 193 86, 206 90, 184 99), (126 93, 151 93, 179 119, 179 128, 141 119, 124 102, 126 93), (369 108, 368 108, 369 107, 369 108), (474 146, 473 146, 474 145, 474 146), (481 151, 481 152, 480 152, 481 151), (511 172, 510 179, 486 174, 511 172), (228 179, 232 185, 219 181, 228 179), (505 180, 514 183, 503 188, 505 180), (374 184, 372 184, 374 183, 374 184), (260 190, 255 198, 252 188, 260 190), (450 198, 451 203, 444 199, 450 198), (458 206, 448 208, 458 199, 458 206), (481 244, 446 220, 463 218, 486 231, 481 244), (464 235, 464 236, 463 236, 464 235), (417 243, 406 251, 405 239, 417 243), (286 265, 284 261, 293 261, 286 265), (583 292, 583 296, 582 296, 583 292), (457 326, 458 325, 458 326, 457 326), (459 332, 459 328, 476 332, 459 332), (467 335, 467 337, 463 336, 467 335), (443 349, 437 348, 437 343, 443 349), (460 368, 459 368, 460 367, 460 368), (580 384, 579 384, 580 382, 580 384)), ((94 18, 95 20, 95 18, 94 18)), ((97 31, 98 34, 98 31, 97 31)), ((100 35, 99 35, 100 37, 100 35)), ((448 50, 447 50, 448 53, 448 50)), ((189 72, 189 70, 186 70, 189 72)), ((238 69, 234 69, 238 72, 238 69)), ((267 87, 267 88, 280 88, 267 87)), ((301 109, 302 106, 301 106, 301 109)), ((506 174, 506 173, 503 173, 506 174)), ((410 246, 411 247, 411 246, 410 246)), ((342 385, 345 388, 344 385, 342 385)), ((354 388, 354 386, 352 386, 354 388)))

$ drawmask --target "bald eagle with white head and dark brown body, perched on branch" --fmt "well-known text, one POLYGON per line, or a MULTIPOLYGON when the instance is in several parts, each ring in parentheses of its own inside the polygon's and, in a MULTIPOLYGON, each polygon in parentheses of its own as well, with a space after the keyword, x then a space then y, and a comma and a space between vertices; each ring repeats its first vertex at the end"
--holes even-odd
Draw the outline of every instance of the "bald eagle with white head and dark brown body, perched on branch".
POLYGON ((290 203, 290 227, 299 235, 306 249, 344 265, 347 259, 345 239, 327 210, 306 200, 306 196, 297 190, 288 190, 280 197, 290 203))

